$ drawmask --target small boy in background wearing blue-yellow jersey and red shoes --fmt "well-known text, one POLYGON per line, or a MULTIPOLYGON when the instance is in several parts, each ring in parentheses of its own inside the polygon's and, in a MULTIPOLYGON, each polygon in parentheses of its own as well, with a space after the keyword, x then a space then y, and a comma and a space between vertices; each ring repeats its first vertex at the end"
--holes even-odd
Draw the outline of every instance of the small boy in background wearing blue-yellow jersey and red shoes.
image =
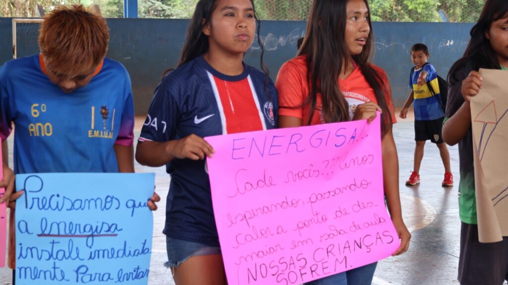
POLYGON ((437 73, 432 64, 427 63, 429 50, 424 44, 411 47, 411 61, 415 64, 414 72, 409 75, 411 93, 404 107, 400 111, 400 118, 406 118, 407 109, 415 102, 415 161, 406 185, 420 183, 420 165, 422 164, 425 141, 430 139, 439 148, 439 154, 444 165, 444 179, 441 186, 453 186, 453 175, 450 168, 450 154, 441 137, 444 110, 439 92, 437 73), (435 94, 429 90, 432 86, 435 94), (436 98, 437 97, 437 98, 436 98), (438 101, 439 100, 439 101, 438 101))

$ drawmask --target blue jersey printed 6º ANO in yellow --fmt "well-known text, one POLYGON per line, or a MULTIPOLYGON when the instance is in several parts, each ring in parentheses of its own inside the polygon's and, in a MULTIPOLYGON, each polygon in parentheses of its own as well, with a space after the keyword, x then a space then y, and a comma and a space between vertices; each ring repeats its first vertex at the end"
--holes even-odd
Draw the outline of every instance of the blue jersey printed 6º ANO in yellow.
POLYGON ((132 146, 131 80, 105 58, 86 86, 66 94, 40 55, 0 67, 0 137, 14 123, 14 172, 118 172, 113 145, 132 146))

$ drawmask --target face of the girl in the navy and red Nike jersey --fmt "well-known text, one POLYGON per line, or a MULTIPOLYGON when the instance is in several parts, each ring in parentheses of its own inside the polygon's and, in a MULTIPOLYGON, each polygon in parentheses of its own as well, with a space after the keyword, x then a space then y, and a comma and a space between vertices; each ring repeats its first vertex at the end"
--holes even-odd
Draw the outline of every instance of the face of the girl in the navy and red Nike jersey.
POLYGON ((254 40, 256 19, 250 0, 217 0, 217 7, 203 29, 210 51, 243 54, 254 40))

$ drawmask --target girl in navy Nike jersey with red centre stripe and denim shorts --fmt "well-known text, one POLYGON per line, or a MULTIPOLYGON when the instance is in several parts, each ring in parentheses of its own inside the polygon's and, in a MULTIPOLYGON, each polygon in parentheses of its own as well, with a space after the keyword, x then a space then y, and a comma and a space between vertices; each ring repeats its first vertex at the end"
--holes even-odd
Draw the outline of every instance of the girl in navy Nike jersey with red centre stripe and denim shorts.
POLYGON ((141 131, 138 162, 166 165, 172 177, 164 233, 177 285, 227 283, 205 170, 214 151, 203 137, 275 128, 277 93, 263 61, 265 73, 243 63, 256 22, 251 0, 201 0, 141 131))

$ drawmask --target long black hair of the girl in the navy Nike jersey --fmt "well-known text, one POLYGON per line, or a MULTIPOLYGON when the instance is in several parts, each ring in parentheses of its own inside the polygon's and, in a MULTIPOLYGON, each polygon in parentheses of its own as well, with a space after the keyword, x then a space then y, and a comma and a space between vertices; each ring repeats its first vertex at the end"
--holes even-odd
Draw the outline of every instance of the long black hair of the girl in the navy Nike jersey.
MULTIPOLYGON (((258 14, 256 13, 254 1, 250 0, 250 3, 252 4, 254 17, 257 22, 258 44, 261 47, 260 65, 261 69, 266 75, 265 79, 265 89, 266 89, 266 85, 268 84, 268 68, 263 62, 263 55, 265 54, 265 49, 263 47, 263 43, 260 37, 261 21, 258 17, 258 14)), ((187 38, 185 39, 185 43, 183 44, 182 53, 180 55, 180 61, 178 62, 177 66, 185 64, 208 51, 209 49, 208 36, 203 33, 203 28, 209 23, 212 13, 213 11, 215 11, 216 8, 217 8, 217 0, 200 0, 198 2, 198 4, 196 5, 196 10, 194 11, 194 15, 192 19, 190 19, 190 23, 187 28, 187 38)), ((166 70, 164 75, 169 73, 171 70, 173 70, 173 68, 166 70)))

